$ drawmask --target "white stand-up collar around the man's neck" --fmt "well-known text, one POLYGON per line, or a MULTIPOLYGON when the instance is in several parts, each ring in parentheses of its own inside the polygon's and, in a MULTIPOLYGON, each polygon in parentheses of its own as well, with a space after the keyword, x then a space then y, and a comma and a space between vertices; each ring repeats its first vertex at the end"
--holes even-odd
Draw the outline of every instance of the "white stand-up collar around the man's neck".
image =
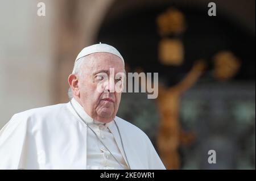
MULTIPOLYGON (((86 123, 89 123, 89 124, 92 124, 92 123, 94 123, 94 124, 104 124, 105 125, 105 123, 102 123, 101 121, 94 120, 92 117, 90 117, 88 115, 88 113, 86 113, 84 111, 84 108, 82 108, 81 104, 79 102, 77 102, 77 100, 75 98, 72 98, 71 102, 72 102, 73 106, 75 107, 75 110, 79 113, 79 115, 82 117, 82 119, 84 119, 86 121, 86 123)), ((110 121, 110 123, 111 122, 112 121, 110 121)))

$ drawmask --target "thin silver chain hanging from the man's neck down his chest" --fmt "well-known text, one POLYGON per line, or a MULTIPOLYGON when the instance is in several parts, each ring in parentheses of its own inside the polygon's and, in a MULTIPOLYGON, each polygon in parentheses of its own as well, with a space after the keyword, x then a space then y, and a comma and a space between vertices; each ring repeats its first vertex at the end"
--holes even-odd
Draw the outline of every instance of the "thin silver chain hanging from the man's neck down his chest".
MULTIPOLYGON (((109 151, 109 153, 112 155, 112 157, 114 158, 114 160, 118 163, 118 165, 121 166, 121 167, 123 167, 123 165, 122 165, 120 162, 118 162, 117 158, 115 158, 114 155, 111 153, 111 151, 108 149, 108 147, 106 147, 106 145, 105 145, 104 142, 100 139, 100 137, 98 137, 98 135, 96 134, 96 132, 94 132, 93 129, 88 125, 88 123, 86 123, 86 121, 85 121, 84 119, 82 119, 82 117, 79 115, 79 113, 76 111, 75 107, 73 106, 71 100, 70 100, 70 103, 71 103, 71 106, 72 106, 73 110, 76 112, 77 116, 79 116, 80 119, 87 125, 87 127, 95 134, 97 140, 100 141, 100 143, 109 151)), ((114 120, 114 123, 115 123, 115 120, 114 120)), ((118 131, 118 134, 119 134, 119 137, 120 137, 120 140, 121 140, 123 152, 125 153, 125 149, 124 149, 124 146, 123 146, 123 140, 122 140, 121 133, 120 133, 120 131, 119 131, 119 128, 118 128, 117 123, 115 123, 115 126, 117 127, 117 131, 118 131)), ((126 157, 126 153, 125 153, 125 157, 126 157)), ((128 167, 129 167, 129 169, 130 169, 130 164, 129 164, 129 162, 128 162, 127 157, 126 157, 126 161, 127 161, 128 167)), ((123 169, 125 169, 125 167, 123 167, 123 169)))

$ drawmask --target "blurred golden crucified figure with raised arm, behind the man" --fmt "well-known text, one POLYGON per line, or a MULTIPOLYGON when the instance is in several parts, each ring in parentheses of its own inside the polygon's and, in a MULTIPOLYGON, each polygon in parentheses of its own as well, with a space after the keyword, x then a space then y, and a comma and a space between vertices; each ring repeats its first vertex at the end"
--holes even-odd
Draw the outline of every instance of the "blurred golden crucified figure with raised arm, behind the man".
POLYGON ((189 144, 195 138, 193 133, 185 133, 180 127, 180 98, 196 83, 205 67, 206 64, 203 60, 196 61, 189 73, 177 85, 159 86, 159 95, 156 101, 160 113, 160 123, 156 140, 159 155, 167 169, 180 168, 178 148, 180 144, 189 144))

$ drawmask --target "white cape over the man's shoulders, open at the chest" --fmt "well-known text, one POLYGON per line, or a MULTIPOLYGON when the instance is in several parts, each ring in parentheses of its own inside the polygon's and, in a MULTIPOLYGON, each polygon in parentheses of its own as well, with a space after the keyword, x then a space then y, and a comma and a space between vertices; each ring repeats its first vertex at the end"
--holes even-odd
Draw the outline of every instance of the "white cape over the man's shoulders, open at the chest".
MULTIPOLYGON (((115 121, 131 169, 165 169, 141 129, 115 121)), ((113 121, 109 129, 125 158, 113 121)), ((86 133, 70 103, 17 113, 0 131, 0 169, 86 169, 86 133)))

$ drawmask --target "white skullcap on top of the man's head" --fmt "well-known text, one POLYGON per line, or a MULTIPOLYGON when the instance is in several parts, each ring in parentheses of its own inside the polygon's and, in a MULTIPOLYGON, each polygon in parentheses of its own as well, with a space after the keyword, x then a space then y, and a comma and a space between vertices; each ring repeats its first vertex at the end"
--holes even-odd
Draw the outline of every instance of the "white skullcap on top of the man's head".
POLYGON ((76 57, 75 64, 76 64, 77 60, 79 60, 79 58, 84 57, 88 54, 97 53, 97 52, 112 53, 112 54, 118 56, 119 58, 121 58, 121 60, 123 61, 123 65, 125 65, 125 61, 123 60, 123 57, 118 52, 118 50, 115 49, 114 47, 112 47, 108 44, 104 44, 104 43, 90 45, 89 47, 85 47, 84 49, 82 49, 81 52, 76 57))

